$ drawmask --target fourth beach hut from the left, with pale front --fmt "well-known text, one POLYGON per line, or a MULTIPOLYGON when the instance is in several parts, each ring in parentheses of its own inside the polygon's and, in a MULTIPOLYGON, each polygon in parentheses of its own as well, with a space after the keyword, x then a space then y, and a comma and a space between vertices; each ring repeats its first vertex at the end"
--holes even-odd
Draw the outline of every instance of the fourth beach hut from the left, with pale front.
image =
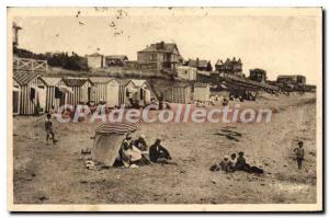
POLYGON ((91 96, 94 103, 98 104, 102 100, 107 107, 120 105, 120 83, 115 79, 106 77, 91 77, 89 79, 94 84, 91 96))

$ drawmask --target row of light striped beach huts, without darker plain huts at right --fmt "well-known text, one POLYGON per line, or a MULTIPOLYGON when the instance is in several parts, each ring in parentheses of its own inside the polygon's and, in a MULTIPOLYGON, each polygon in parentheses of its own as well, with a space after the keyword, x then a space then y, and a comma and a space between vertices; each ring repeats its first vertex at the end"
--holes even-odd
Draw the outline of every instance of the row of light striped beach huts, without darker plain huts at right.
POLYGON ((33 115, 39 112, 57 111, 69 104, 99 104, 107 107, 140 102, 148 104, 151 93, 146 80, 114 79, 107 77, 43 77, 37 72, 14 71, 13 114, 33 115))

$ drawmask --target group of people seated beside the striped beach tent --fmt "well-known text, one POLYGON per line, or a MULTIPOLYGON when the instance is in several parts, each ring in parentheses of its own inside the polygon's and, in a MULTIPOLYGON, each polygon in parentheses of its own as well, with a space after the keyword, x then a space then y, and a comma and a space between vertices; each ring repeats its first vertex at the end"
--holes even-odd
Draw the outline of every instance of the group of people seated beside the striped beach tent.
POLYGON ((122 141, 118 156, 115 160, 115 167, 137 168, 151 163, 174 163, 169 151, 161 146, 161 140, 156 141, 148 147, 145 141, 145 135, 140 134, 136 140, 127 134, 122 141))

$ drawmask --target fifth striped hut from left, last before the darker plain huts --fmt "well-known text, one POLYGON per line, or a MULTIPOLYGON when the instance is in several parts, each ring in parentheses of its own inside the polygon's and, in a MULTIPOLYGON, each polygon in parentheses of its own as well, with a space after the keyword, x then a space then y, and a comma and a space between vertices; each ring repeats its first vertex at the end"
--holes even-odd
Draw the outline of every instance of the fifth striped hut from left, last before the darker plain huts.
POLYGON ((146 80, 121 80, 121 84, 124 87, 123 103, 125 105, 150 103, 150 89, 146 80))

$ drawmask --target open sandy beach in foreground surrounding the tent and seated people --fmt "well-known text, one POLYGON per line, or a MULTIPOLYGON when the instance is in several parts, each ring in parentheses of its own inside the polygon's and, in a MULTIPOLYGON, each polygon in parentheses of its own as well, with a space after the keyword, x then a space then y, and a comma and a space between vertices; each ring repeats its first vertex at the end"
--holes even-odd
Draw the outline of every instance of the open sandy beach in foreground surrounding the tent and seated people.
MULTIPOLYGON (((46 144, 45 116, 13 118, 14 204, 276 204, 316 203, 316 97, 263 96, 243 107, 272 108, 261 124, 143 124, 146 141, 163 140, 178 165, 88 170, 80 151, 91 148, 97 123, 54 122, 58 144, 46 144), (241 134, 238 140, 218 135, 241 134), (305 145, 302 170, 293 159, 305 145), (225 154, 245 151, 263 175, 212 172, 225 154)), ((138 134, 138 133, 137 133, 138 134)))

